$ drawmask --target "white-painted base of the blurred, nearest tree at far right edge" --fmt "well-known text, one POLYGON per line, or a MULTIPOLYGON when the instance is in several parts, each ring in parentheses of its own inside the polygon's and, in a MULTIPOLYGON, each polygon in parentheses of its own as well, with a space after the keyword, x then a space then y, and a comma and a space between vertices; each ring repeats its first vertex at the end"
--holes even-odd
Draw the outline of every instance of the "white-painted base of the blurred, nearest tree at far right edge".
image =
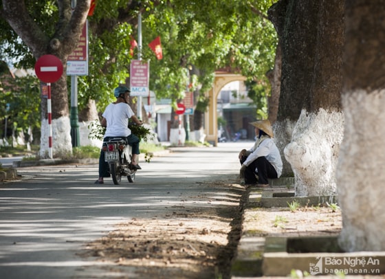
POLYGON ((385 251, 385 90, 344 93, 342 107, 340 246, 347 252, 385 251))

